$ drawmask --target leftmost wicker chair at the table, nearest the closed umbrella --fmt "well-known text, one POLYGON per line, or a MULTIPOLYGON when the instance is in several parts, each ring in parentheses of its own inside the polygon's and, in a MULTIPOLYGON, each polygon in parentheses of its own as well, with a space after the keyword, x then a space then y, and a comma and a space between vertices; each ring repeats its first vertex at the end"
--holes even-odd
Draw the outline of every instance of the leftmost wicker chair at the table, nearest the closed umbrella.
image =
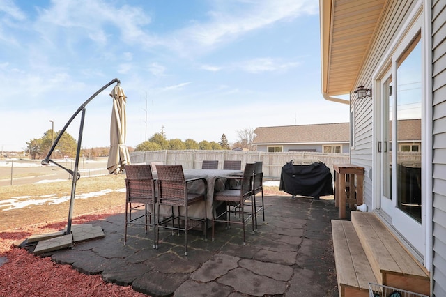
POLYGON ((153 229, 153 248, 156 245, 155 181, 152 177, 151 165, 125 165, 125 231, 124 245, 127 243, 127 227, 129 224, 151 226, 153 229), (135 205, 136 204, 136 205, 135 205), (132 218, 132 211, 144 206, 144 214, 132 218), (148 208, 150 206, 150 209, 148 208), (152 218, 153 215, 153 218, 152 218), (141 222, 145 219, 145 223, 141 222), (148 222, 147 222, 148 219, 148 222), (153 219, 153 220, 152 220, 153 219))

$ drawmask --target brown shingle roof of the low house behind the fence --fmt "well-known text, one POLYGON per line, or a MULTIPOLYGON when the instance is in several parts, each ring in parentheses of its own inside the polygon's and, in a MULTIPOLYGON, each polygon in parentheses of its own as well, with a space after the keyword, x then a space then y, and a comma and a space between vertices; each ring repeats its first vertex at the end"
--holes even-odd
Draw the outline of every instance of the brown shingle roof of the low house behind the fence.
POLYGON ((258 127, 254 130, 253 144, 298 144, 348 142, 348 123, 325 123, 314 125, 284 125, 258 127))

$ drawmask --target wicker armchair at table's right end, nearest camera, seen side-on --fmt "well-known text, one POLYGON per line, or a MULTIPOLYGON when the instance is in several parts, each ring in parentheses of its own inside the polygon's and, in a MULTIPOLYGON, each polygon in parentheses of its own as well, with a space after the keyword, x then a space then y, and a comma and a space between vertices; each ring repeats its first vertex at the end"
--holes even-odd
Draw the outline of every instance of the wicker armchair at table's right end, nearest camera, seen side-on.
MULTIPOLYGON (((252 232, 254 233, 254 203, 252 201, 252 184, 254 179, 254 163, 247 163, 243 176, 220 176, 217 178, 236 179, 241 181, 240 190, 227 189, 222 192, 216 192, 213 199, 213 217, 212 217, 212 240, 215 238, 215 222, 224 222, 226 227, 231 227, 231 222, 241 224, 243 228, 243 245, 246 245, 245 224, 252 218, 252 232), (249 200, 251 211, 245 211, 245 200, 249 200), (216 215, 216 208, 219 201, 224 203, 224 211, 216 215), (233 209, 231 209, 233 208, 233 209), (236 208, 239 208, 237 211, 236 208), (238 221, 231 221, 231 213, 238 213, 241 218, 238 221), (247 217, 245 218, 245 215, 247 217)), ((234 215, 236 217, 236 215, 234 215)))

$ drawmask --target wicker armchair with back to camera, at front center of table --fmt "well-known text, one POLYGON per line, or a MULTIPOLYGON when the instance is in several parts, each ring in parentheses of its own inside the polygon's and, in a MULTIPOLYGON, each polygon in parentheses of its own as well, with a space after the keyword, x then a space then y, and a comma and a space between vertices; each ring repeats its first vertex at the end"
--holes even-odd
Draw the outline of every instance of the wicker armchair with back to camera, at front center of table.
POLYGON ((172 231, 184 231, 185 234, 185 255, 187 256, 187 233, 190 229, 197 227, 199 224, 203 224, 204 238, 207 241, 207 229, 208 220, 206 213, 206 192, 207 192, 207 181, 206 178, 191 178, 185 179, 183 166, 182 165, 157 165, 157 185, 158 185, 158 213, 160 213, 160 206, 171 206, 171 215, 167 218, 161 220, 161 215, 158 215, 157 223, 157 247, 158 241, 160 239, 160 228, 171 229, 172 231), (192 183, 192 181, 203 181, 204 193, 193 193, 187 191, 187 184, 192 183), (193 221, 197 224, 190 224, 188 216, 188 206, 192 204, 203 203, 204 207, 204 218, 194 218, 193 221), (178 214, 174 213, 174 207, 178 208, 178 214), (185 208, 185 215, 180 215, 180 208, 185 208), (178 224, 175 224, 177 220, 178 224), (180 220, 184 220, 183 227, 180 225, 180 220), (169 222, 172 225, 169 226, 169 222))

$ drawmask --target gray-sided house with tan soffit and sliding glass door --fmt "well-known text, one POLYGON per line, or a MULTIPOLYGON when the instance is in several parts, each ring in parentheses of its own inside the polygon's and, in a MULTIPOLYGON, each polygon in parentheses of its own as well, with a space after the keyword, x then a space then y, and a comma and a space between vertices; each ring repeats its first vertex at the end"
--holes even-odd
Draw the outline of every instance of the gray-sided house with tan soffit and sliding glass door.
POLYGON ((446 1, 321 0, 320 12, 322 93, 350 105, 364 202, 429 271, 431 296, 446 296, 446 1))

